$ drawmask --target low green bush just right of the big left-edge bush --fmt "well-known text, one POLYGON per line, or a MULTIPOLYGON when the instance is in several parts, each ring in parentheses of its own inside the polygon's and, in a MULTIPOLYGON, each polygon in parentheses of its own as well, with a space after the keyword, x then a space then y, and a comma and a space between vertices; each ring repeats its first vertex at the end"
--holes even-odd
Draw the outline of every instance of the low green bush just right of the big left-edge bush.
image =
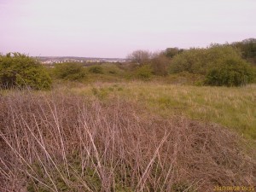
POLYGON ((83 65, 76 62, 56 64, 54 74, 57 79, 73 81, 84 79, 86 76, 83 65))

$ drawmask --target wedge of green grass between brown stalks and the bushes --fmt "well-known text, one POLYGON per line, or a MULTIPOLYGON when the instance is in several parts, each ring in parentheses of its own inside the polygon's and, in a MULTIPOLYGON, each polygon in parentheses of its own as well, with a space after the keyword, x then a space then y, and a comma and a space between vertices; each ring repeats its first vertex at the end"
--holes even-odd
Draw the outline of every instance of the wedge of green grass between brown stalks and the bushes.
POLYGON ((119 97, 142 104, 166 118, 183 115, 227 126, 247 138, 256 139, 256 85, 206 87, 178 84, 98 83, 71 89, 101 100, 119 97))

